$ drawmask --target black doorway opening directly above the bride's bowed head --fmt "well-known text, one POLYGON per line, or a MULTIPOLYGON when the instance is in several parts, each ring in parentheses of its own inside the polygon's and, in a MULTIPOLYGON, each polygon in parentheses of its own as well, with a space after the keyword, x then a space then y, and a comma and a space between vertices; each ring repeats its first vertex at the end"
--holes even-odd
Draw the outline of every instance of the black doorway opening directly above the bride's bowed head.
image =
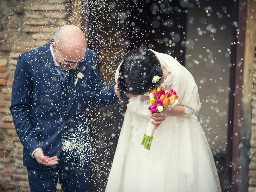
POLYGON ((129 49, 144 46, 170 54, 184 65, 188 2, 130 1, 129 49))

